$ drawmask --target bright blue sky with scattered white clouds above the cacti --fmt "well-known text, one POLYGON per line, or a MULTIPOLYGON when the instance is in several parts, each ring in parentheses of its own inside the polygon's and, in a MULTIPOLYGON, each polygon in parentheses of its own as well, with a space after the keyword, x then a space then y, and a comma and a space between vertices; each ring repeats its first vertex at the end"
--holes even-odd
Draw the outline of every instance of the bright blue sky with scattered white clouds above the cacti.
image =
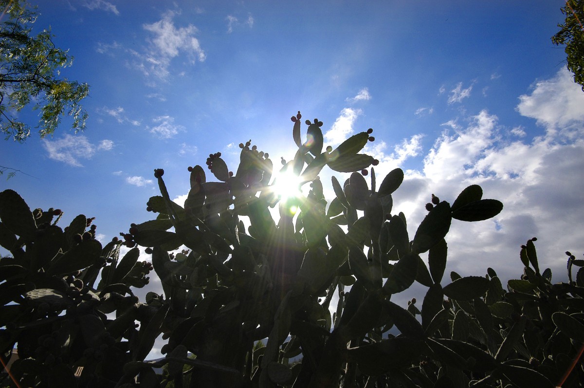
MULTIPOLYGON (((324 123, 325 146, 373 128, 378 181, 405 171, 393 213, 411 238, 432 193, 452 203, 478 184, 503 202, 491 220, 453 221, 446 273, 491 267, 505 284, 532 237, 555 282, 567 279, 565 251, 582 258, 584 92, 550 39, 561 0, 33 4, 36 29, 50 26, 75 57, 61 74, 90 85, 89 119, 83 133, 65 117, 53 137, 2 141, 0 165, 26 174, 5 172, 0 190, 64 210, 61 227, 96 217, 105 243, 152 217, 154 168, 182 203, 187 167, 221 152, 235 171, 250 139, 274 165, 290 160, 300 110, 324 123)), ((325 168, 329 199, 331 175, 346 178, 325 168)), ((155 276, 150 287, 161 292, 155 276)), ((421 300, 425 287, 412 290, 421 300)))

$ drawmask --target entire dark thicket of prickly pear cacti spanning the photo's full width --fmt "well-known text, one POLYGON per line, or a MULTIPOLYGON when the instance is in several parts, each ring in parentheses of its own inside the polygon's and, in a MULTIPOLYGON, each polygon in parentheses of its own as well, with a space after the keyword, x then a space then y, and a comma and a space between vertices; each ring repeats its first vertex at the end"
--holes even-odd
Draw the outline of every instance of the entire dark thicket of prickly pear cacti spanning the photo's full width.
POLYGON ((189 167, 183 207, 156 169, 155 219, 105 247, 91 219, 61 230, 60 210, 31 212, 18 193, 0 193, 0 244, 12 255, 0 260, 0 351, 4 361, 13 347, 19 354, 0 386, 578 386, 584 272, 572 280, 572 271, 584 261, 566 252, 570 281, 553 284, 533 238, 506 287, 491 268, 451 272, 449 283, 452 221, 490 219, 503 205, 477 185, 452 203, 429 195, 411 238, 392 209, 404 173, 378 183, 377 161, 360 153, 372 130, 323 151, 322 123, 307 121, 303 141, 300 118, 298 151, 280 173, 310 184, 307 195, 280 199, 269 154, 248 141, 234 172, 220 153, 207 158, 210 174, 189 167), (323 168, 352 173, 332 178, 330 202, 323 168), (122 244, 131 250, 120 259, 122 244), (140 302, 132 288, 152 268, 163 293, 140 302), (423 298, 391 301, 414 282, 427 287, 423 298), (145 361, 161 334, 165 358, 145 361))

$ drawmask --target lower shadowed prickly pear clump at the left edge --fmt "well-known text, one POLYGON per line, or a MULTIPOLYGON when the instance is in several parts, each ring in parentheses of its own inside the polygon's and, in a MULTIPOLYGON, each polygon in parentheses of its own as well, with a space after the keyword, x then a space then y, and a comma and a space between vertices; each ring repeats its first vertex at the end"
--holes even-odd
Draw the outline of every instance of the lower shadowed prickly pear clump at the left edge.
POLYGON ((113 386, 125 363, 150 351, 134 325, 155 314, 131 287, 148 283, 151 264, 138 248, 120 259, 117 238, 102 247, 93 218, 61 229, 61 216, 0 192, 0 245, 10 252, 0 258, 0 356, 7 362, 16 347, 19 357, 2 387, 113 386))

